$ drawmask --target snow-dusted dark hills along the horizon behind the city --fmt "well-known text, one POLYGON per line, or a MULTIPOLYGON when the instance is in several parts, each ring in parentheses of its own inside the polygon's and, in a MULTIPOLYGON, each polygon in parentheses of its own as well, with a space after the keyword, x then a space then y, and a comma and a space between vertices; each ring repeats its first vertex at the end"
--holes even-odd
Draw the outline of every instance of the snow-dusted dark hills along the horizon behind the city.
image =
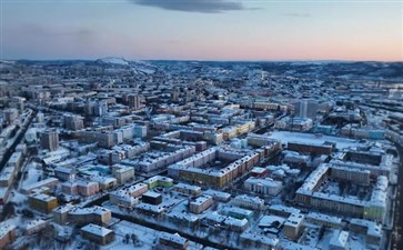
POLYGON ((144 60, 134 61, 119 57, 97 60, 1 60, 0 68, 22 66, 100 66, 111 70, 132 70, 137 74, 152 74, 158 70, 177 73, 231 72, 244 74, 250 70, 265 71, 272 76, 290 76, 306 79, 380 80, 403 82, 403 62, 381 61, 198 61, 198 60, 144 60))

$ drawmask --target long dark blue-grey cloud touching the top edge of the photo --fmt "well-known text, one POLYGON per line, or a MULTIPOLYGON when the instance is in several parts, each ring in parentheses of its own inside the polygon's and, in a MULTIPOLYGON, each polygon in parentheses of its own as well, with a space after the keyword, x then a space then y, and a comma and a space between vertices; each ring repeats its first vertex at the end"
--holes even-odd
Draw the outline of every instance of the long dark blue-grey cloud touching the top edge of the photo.
POLYGON ((157 7, 165 10, 221 13, 232 10, 248 10, 240 1, 235 0, 130 0, 140 6, 157 7))

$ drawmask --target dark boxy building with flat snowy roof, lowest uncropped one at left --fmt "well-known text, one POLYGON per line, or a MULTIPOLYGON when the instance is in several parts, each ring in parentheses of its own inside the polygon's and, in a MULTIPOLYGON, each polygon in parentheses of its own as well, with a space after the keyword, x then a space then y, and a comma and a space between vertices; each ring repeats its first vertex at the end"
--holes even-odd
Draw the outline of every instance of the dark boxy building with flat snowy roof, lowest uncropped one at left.
POLYGON ((98 244, 108 244, 114 239, 114 232, 98 224, 87 224, 81 230, 82 238, 98 244))

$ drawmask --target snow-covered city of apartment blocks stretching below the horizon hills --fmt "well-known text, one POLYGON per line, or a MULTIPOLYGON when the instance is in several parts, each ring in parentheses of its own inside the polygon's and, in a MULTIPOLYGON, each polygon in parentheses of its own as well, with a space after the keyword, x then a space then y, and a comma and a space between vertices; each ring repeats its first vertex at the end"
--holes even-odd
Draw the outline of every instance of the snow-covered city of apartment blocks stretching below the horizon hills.
POLYGON ((401 84, 270 67, 2 62, 1 248, 400 249, 401 84))

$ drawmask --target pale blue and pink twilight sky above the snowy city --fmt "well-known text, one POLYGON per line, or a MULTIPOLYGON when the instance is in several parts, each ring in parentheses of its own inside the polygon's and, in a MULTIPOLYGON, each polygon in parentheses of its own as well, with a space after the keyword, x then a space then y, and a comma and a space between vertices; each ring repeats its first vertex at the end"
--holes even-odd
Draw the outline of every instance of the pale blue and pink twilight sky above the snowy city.
POLYGON ((403 0, 0 0, 1 59, 403 61, 403 0))

